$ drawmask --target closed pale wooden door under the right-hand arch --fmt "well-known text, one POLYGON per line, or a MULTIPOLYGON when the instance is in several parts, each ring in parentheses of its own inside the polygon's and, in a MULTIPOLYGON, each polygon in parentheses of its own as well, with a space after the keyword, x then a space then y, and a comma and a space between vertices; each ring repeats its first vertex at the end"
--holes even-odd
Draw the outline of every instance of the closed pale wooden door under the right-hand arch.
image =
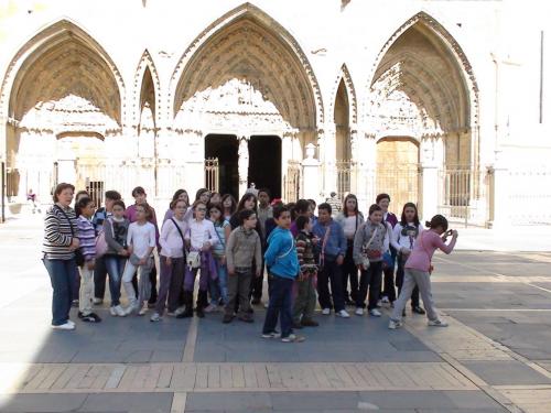
POLYGON ((390 195, 391 209, 420 200, 419 144, 407 138, 385 138, 377 143, 377 193, 390 195))

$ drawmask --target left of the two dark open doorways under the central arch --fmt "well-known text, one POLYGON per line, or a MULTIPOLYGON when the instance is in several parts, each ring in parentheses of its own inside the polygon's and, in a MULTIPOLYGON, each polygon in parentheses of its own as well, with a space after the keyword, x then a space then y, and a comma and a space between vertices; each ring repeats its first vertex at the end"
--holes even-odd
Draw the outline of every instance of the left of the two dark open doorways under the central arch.
POLYGON ((239 195, 238 148, 234 134, 207 134, 205 138, 205 159, 218 159, 218 192, 223 195, 239 195))

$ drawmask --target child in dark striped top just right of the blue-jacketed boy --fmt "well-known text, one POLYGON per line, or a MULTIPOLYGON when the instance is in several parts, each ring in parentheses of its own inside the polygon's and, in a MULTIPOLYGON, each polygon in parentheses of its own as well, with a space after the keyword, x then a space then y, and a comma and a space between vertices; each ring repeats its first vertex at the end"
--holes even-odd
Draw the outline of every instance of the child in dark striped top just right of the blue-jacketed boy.
POLYGON ((300 274, 296 280, 296 298, 293 308, 293 327, 317 327, 313 319, 315 309, 314 279, 317 265, 314 259, 314 243, 312 239, 312 222, 309 217, 300 216, 294 221, 299 235, 296 236, 296 253, 299 256, 300 274), (301 318, 302 316, 302 318, 301 318))

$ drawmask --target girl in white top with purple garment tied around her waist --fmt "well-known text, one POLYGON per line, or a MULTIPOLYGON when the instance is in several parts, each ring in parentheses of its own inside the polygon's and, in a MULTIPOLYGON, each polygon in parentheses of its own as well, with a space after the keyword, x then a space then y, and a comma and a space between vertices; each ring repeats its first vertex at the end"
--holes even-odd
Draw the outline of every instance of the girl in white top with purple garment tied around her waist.
POLYGON ((195 312, 197 317, 204 317, 203 309, 207 306, 207 287, 208 279, 216 278, 216 264, 212 254, 212 247, 218 243, 218 236, 214 229, 213 222, 205 219, 206 203, 196 200, 193 204, 193 214, 195 218, 190 220, 187 232, 184 236, 186 247, 190 249, 187 259, 191 259, 191 253, 197 253, 197 267, 185 265, 184 278, 184 301, 185 312, 179 317, 193 316, 193 290, 195 285, 195 276, 201 269, 199 291, 197 294, 197 306, 195 312))

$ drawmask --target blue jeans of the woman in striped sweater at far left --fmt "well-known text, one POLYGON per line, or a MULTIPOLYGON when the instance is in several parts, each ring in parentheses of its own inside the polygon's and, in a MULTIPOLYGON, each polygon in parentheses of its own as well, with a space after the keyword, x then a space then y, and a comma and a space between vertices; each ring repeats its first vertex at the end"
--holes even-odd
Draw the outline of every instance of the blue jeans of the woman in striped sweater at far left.
POLYGON ((42 260, 52 282, 52 325, 61 326, 69 318, 71 302, 75 272, 77 271, 74 259, 71 260, 42 260))

